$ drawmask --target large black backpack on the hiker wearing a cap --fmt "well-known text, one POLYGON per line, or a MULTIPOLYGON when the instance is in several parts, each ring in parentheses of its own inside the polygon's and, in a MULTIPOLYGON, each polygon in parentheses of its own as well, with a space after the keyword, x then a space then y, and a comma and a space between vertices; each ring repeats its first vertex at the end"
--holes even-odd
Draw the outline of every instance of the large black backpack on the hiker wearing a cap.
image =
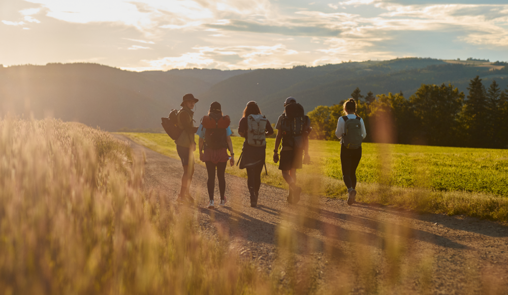
POLYGON ((290 146, 294 149, 303 150, 308 144, 308 132, 310 119, 299 103, 290 103, 284 108, 280 122, 282 132, 282 146, 290 146))

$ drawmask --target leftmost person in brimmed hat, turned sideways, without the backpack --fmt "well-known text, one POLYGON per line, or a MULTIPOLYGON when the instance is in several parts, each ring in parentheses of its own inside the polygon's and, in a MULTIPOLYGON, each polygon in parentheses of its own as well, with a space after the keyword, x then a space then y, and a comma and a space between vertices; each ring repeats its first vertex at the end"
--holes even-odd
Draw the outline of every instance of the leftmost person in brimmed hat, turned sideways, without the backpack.
POLYGON ((190 196, 189 189, 190 183, 194 175, 194 151, 196 151, 196 141, 194 140, 194 134, 198 130, 198 127, 194 127, 194 112, 192 109, 198 99, 194 95, 188 93, 183 96, 182 107, 178 111, 177 121, 178 127, 182 129, 182 133, 175 140, 176 151, 182 162, 183 174, 182 184, 180 187, 180 193, 176 199, 180 203, 190 202, 194 203, 194 198, 190 196))

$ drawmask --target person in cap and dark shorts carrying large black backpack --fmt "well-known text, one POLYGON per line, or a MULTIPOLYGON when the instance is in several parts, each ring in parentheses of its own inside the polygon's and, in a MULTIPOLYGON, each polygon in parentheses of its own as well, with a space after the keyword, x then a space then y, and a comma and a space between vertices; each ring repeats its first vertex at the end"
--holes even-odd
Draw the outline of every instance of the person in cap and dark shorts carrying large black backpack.
POLYGON ((273 162, 279 162, 278 149, 280 150, 279 170, 282 170, 282 177, 289 185, 287 201, 296 204, 300 200, 302 188, 296 186, 296 169, 302 168, 305 154, 305 162, 310 163, 308 154, 308 135, 312 131, 310 119, 303 110, 303 107, 293 97, 288 97, 284 102, 284 112, 279 116, 277 124, 277 137, 275 138, 275 149, 273 150, 273 162))

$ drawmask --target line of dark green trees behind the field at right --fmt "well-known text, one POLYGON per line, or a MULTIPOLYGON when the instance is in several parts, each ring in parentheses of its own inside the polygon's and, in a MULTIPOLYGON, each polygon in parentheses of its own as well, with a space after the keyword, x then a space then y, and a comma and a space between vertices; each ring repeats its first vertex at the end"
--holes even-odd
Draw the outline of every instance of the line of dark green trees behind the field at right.
MULTIPOLYGON (((506 149, 508 88, 501 90, 493 80, 487 89, 477 76, 467 90, 465 96, 452 84, 422 84, 405 99, 402 92, 363 96, 357 87, 351 97, 364 120, 366 142, 506 149)), ((312 138, 338 140, 335 129, 344 114, 343 102, 308 113, 312 138)))

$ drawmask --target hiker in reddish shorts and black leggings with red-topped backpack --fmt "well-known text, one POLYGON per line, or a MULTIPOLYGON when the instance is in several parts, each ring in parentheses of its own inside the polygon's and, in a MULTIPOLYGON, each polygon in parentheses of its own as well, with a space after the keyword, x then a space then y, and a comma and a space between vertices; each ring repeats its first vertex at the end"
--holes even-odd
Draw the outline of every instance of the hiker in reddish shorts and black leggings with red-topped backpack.
POLYGON ((216 101, 210 104, 208 115, 203 116, 201 124, 196 132, 199 135, 199 159, 205 162, 208 172, 208 209, 215 207, 213 192, 215 189, 215 168, 217 169, 217 180, 219 183, 220 206, 226 205, 226 179, 225 172, 228 160, 230 165, 235 164, 235 154, 233 153, 233 143, 231 142, 231 120, 229 116, 224 116, 220 104, 216 101), (227 149, 231 153, 228 155, 227 149))

